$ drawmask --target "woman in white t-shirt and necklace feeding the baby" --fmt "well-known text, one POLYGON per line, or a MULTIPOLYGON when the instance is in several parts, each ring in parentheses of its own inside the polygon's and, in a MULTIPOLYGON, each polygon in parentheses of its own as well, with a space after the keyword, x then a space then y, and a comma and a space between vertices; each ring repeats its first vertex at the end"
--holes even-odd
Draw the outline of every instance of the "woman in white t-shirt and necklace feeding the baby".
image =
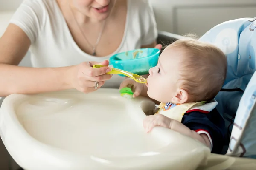
POLYGON ((0 38, 0 96, 118 88, 122 77, 92 65, 108 66, 123 51, 161 48, 156 38, 146 0, 24 0, 0 38), (28 49, 35 68, 17 66, 28 49))

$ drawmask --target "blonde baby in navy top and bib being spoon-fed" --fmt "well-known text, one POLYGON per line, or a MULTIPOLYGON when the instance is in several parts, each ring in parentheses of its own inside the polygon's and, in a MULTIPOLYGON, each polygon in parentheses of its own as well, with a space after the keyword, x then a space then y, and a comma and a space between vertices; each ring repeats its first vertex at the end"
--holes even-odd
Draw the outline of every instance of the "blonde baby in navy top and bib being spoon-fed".
POLYGON ((125 79, 120 88, 133 87, 134 96, 149 96, 161 102, 154 115, 147 116, 147 132, 163 126, 190 136, 221 153, 224 119, 215 109, 214 97, 226 78, 227 59, 206 42, 186 38, 167 46, 157 66, 149 70, 147 84, 125 79))

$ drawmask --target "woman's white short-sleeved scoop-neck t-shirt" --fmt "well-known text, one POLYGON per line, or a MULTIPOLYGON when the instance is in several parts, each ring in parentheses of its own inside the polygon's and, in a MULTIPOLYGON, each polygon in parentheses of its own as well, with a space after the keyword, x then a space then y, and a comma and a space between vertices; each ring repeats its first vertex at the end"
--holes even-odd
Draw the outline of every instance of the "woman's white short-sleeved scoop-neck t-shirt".
MULTIPOLYGON (((154 13, 148 0, 128 0, 124 36, 118 49, 106 57, 84 53, 68 29, 56 0, 24 0, 10 23, 19 26, 31 40, 33 67, 64 67, 85 61, 102 62, 113 54, 148 45, 157 38, 154 13)), ((113 75, 105 88, 119 88, 124 77, 113 75)))

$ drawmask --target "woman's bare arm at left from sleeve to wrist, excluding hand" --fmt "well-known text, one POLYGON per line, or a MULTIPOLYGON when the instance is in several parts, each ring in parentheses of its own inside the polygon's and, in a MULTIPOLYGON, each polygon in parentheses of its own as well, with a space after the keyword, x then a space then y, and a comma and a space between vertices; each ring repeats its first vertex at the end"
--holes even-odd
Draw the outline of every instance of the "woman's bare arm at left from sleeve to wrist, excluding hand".
POLYGON ((0 38, 0 96, 33 94, 71 88, 65 68, 27 68, 17 66, 30 46, 27 35, 10 24, 0 38), (66 76, 65 76, 66 75, 66 76))

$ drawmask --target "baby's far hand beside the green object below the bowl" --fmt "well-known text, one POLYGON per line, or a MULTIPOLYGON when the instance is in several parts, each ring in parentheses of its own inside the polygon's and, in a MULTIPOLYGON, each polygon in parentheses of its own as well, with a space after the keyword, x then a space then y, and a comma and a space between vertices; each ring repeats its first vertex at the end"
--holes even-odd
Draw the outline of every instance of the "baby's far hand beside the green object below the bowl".
POLYGON ((134 92, 133 94, 133 97, 137 97, 140 95, 140 93, 143 91, 143 84, 142 83, 138 83, 138 82, 135 82, 133 79, 131 78, 127 78, 125 79, 121 85, 120 85, 120 88, 131 88, 131 90, 134 92))

